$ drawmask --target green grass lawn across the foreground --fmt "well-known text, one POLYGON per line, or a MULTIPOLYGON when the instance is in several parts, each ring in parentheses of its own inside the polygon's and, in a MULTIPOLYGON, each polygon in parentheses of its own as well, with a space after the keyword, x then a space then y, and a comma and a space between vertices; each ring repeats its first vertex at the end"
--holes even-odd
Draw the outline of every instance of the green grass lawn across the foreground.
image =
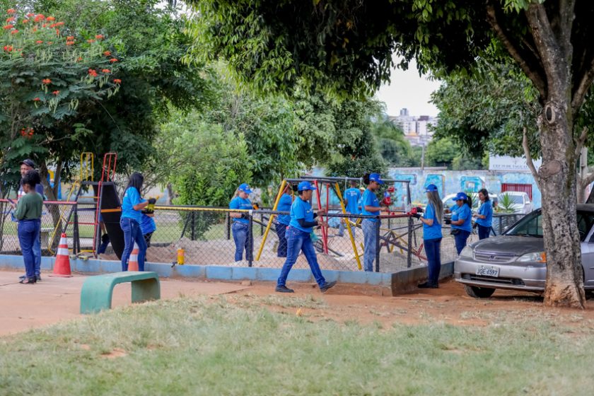
POLYGON ((591 324, 383 328, 267 308, 279 304, 327 308, 312 297, 180 298, 0 338, 0 394, 586 395, 594 386, 591 324), (124 356, 107 359, 114 350, 124 356))

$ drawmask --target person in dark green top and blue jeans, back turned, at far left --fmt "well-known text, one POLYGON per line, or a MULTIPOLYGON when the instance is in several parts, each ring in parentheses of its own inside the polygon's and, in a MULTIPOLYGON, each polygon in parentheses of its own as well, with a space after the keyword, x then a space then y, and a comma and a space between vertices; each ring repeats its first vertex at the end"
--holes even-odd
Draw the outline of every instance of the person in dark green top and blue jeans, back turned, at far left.
POLYGON ((16 208, 14 216, 18 220, 18 242, 21 243, 21 252, 25 261, 25 278, 21 284, 35 283, 35 255, 33 255, 33 244, 39 239, 41 229, 41 211, 43 197, 35 191, 35 186, 40 184, 41 179, 37 170, 29 170, 23 177, 23 191, 25 194, 12 204, 16 208))

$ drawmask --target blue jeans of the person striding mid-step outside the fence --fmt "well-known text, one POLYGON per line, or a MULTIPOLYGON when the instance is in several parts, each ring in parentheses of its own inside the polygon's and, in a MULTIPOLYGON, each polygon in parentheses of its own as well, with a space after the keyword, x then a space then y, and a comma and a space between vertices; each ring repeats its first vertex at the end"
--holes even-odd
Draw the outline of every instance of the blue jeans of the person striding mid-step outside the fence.
POLYGON ((283 265, 283 269, 281 269, 281 276, 279 276, 279 280, 276 281, 276 285, 285 286, 286 277, 289 276, 289 271, 291 271, 293 264, 297 261, 299 252, 303 251, 315 281, 318 282, 318 286, 324 286, 326 279, 322 276, 322 270, 320 270, 320 265, 318 264, 318 257, 315 255, 315 248, 313 248, 310 233, 304 233, 297 228, 289 227, 286 231, 286 246, 286 261, 283 265))

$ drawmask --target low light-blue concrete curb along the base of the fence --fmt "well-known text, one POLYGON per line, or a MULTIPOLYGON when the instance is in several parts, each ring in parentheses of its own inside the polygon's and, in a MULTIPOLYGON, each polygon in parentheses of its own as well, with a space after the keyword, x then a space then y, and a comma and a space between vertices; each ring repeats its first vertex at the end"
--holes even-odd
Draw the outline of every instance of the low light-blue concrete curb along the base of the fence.
MULTIPOLYGON (((52 271, 55 257, 42 257, 41 268, 52 271)), ((104 272, 119 272, 122 267, 119 261, 111 260, 80 260, 71 259, 70 267, 73 272, 81 274, 100 274, 104 272)), ((23 257, 16 255, 0 255, 0 269, 23 269, 23 257)), ((176 265, 147 262, 147 271, 154 271, 165 278, 198 278, 216 281, 276 281, 279 268, 264 267, 226 267, 216 265, 176 265)), ((383 272, 363 271, 334 271, 324 270, 327 281, 338 281, 344 284, 359 284, 379 289, 383 294, 396 296, 416 289, 417 284, 427 278, 427 267, 402 269, 399 272, 387 274, 383 272)), ((453 274, 453 262, 442 264, 440 279, 453 274)), ((290 282, 315 283, 309 269, 291 269, 290 282)))

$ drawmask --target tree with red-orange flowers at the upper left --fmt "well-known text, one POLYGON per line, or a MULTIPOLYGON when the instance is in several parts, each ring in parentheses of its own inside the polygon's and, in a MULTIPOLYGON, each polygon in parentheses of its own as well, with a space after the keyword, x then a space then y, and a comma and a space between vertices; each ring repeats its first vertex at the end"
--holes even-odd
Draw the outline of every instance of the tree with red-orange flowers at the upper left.
POLYGON ((11 166, 38 155, 56 163, 59 175, 70 159, 64 145, 80 146, 93 133, 86 113, 120 88, 112 43, 104 35, 71 31, 52 16, 13 8, 0 37, 0 169, 5 180, 16 182, 11 166))

